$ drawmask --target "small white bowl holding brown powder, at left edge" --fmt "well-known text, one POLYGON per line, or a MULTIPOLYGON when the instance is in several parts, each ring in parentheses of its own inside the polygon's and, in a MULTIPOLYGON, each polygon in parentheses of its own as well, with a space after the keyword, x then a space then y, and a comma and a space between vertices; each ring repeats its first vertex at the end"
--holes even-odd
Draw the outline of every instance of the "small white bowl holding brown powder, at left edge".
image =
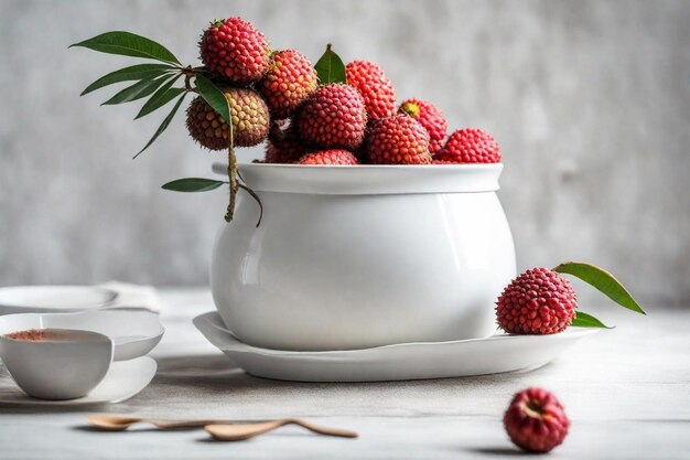
MULTIPOLYGON (((112 341, 91 331, 57 330, 68 340, 29 341, 0 335, 0 357, 17 385, 41 399, 87 395, 108 373, 112 341)), ((21 332, 21 331, 12 331, 21 332)))

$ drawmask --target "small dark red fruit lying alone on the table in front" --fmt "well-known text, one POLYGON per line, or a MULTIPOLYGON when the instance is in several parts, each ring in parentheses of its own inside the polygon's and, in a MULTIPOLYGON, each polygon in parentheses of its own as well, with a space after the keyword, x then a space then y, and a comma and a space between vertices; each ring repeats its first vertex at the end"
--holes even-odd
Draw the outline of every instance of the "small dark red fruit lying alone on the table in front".
POLYGON ((517 447, 540 453, 563 442, 570 427, 561 403, 541 388, 528 388, 516 394, 503 422, 517 447))

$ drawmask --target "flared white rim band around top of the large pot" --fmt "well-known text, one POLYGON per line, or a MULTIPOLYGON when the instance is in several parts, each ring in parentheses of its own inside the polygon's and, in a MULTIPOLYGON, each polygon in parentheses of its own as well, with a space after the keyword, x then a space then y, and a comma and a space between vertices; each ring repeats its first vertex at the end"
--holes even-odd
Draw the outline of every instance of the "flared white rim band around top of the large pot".
MULTIPOLYGON (((215 171, 223 167, 214 165, 215 171)), ((324 195, 476 193, 499 189, 502 163, 303 165, 240 163, 257 192, 324 195)))

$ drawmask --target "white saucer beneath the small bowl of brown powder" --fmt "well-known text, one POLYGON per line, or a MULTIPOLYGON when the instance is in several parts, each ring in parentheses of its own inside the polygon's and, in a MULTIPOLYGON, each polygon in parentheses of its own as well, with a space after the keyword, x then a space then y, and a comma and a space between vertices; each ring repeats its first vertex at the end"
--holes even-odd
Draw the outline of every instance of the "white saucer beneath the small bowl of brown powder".
MULTIPOLYGON (((0 405, 12 406, 86 406, 106 403, 121 403, 136 396, 153 379, 158 364, 149 356, 112 363, 104 379, 84 397, 68 400, 45 400, 32 398, 12 386, 0 385, 0 405)), ((8 376, 7 379, 11 381, 8 376)))

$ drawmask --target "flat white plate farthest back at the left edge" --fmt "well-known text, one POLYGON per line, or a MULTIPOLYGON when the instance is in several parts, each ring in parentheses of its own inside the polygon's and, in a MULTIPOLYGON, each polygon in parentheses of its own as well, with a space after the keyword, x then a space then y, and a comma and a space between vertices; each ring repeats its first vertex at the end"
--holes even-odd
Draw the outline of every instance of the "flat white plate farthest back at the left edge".
POLYGON ((104 308, 118 297, 93 286, 11 286, 0 288, 0 314, 79 311, 104 308))

